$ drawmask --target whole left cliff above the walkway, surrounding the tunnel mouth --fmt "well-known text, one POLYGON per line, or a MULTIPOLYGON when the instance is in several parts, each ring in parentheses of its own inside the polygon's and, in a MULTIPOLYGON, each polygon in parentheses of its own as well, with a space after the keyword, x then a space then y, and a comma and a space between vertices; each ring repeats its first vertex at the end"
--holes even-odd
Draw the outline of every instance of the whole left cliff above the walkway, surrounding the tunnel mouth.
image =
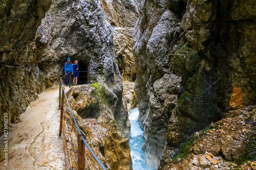
POLYGON ((130 123, 122 100, 112 26, 104 16, 101 2, 6 1, 2 7, 5 27, 1 27, 1 64, 25 67, 1 67, 1 75, 5 75, 1 78, 1 114, 9 113, 9 124, 18 119, 37 93, 58 81, 70 57, 79 61, 80 70, 93 70, 91 82, 101 82, 115 93, 117 126, 129 138, 130 123))

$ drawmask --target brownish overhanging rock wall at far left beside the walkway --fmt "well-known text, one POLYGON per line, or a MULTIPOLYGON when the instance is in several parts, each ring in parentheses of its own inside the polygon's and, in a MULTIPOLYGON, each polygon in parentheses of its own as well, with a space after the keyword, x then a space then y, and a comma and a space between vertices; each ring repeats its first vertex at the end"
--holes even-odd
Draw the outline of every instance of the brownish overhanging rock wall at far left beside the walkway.
POLYGON ((0 116, 8 113, 9 127, 45 88, 44 76, 35 64, 40 60, 35 35, 50 6, 51 0, 0 3, 0 116))

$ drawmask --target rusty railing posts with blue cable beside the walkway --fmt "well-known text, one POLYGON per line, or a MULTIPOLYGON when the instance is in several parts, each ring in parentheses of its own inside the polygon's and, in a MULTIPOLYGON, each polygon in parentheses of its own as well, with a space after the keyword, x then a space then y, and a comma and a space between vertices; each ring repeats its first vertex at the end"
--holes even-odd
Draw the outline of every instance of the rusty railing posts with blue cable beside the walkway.
MULTIPOLYGON (((65 75, 67 76, 67 75, 65 75)), ((94 154, 94 152, 92 151, 92 149, 90 148, 90 146, 88 145, 88 143, 86 142, 86 136, 84 134, 81 133, 76 119, 74 117, 74 114, 72 112, 72 109, 70 107, 68 98, 67 98, 67 94, 65 92, 65 88, 63 87, 63 82, 62 82, 62 78, 65 77, 62 76, 59 79, 59 88, 60 88, 60 92, 59 92, 59 96, 61 96, 59 102, 59 109, 60 109, 60 124, 59 124, 59 136, 61 136, 62 133, 62 128, 63 128, 63 110, 64 110, 64 101, 66 99, 67 104, 69 106, 69 110, 70 113, 73 117, 74 123, 76 125, 77 131, 78 131, 78 135, 77 135, 77 141, 78 141, 78 153, 77 153, 77 165, 78 165, 78 170, 84 170, 85 167, 85 146, 88 148, 88 150, 91 152, 91 154, 93 155, 94 159, 98 162, 98 164, 101 166, 102 169, 106 170, 106 168, 104 167, 104 165, 100 162, 100 160, 98 159, 98 157, 94 154)), ((65 135, 66 132, 63 132, 63 135, 65 135)), ((66 138, 66 135, 65 135, 66 138)))

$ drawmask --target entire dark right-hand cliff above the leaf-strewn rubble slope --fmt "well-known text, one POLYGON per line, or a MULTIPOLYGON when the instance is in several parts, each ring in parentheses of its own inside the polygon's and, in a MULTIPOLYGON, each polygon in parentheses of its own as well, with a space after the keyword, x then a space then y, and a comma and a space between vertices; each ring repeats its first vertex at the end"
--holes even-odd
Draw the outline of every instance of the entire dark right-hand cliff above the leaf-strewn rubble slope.
POLYGON ((146 163, 157 168, 224 111, 255 104, 256 11, 253 1, 138 6, 135 91, 146 163))

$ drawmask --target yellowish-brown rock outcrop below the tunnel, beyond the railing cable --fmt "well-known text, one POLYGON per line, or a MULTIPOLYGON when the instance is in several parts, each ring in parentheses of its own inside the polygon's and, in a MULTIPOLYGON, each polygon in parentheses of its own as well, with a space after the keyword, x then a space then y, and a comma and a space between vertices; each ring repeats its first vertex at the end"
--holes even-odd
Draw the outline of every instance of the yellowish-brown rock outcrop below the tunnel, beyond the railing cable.
MULTIPOLYGON (((133 169, 129 141, 120 132, 115 120, 117 96, 110 89, 94 83, 73 87, 68 92, 68 99, 80 130, 104 166, 108 169, 133 169)), ((67 105, 65 110, 68 153, 71 168, 76 169, 77 161, 73 153, 77 151, 78 131, 67 105)), ((87 149, 86 169, 101 169, 87 149)))

